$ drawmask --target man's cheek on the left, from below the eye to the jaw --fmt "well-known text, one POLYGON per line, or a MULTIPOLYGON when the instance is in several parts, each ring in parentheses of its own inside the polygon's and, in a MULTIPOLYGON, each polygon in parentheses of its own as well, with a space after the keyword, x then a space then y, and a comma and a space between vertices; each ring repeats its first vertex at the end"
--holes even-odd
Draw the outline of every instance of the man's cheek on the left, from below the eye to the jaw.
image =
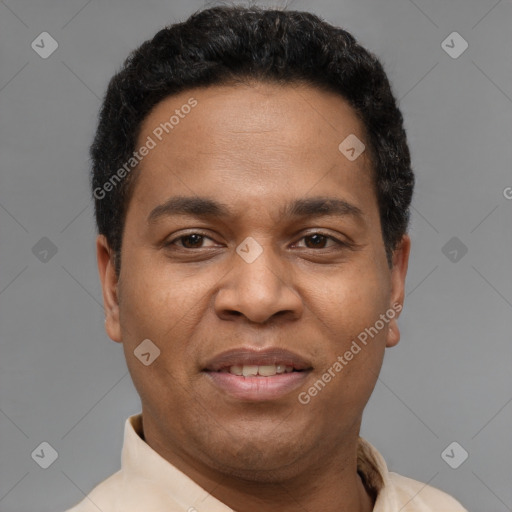
MULTIPOLYGON (((162 404, 166 410, 177 410, 190 399, 186 389, 191 357, 186 342, 199 321, 193 304, 194 300, 197 304, 196 292, 202 290, 195 284, 185 289, 149 258, 123 263, 126 274, 120 288, 120 322, 126 362, 142 403, 157 417, 162 414, 162 404), (137 272, 130 272, 132 269, 137 272), (158 355, 148 365, 136 356, 146 339, 159 351, 153 352, 158 355)), ((149 352, 154 350, 150 346, 149 352)))

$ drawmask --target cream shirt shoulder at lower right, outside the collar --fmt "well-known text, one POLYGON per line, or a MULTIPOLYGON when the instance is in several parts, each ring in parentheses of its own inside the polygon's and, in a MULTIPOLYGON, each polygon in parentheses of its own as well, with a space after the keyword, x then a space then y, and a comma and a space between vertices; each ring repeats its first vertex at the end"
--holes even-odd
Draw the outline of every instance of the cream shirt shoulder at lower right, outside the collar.
POLYGON ((452 496, 398 473, 388 474, 403 512, 467 512, 452 496))

